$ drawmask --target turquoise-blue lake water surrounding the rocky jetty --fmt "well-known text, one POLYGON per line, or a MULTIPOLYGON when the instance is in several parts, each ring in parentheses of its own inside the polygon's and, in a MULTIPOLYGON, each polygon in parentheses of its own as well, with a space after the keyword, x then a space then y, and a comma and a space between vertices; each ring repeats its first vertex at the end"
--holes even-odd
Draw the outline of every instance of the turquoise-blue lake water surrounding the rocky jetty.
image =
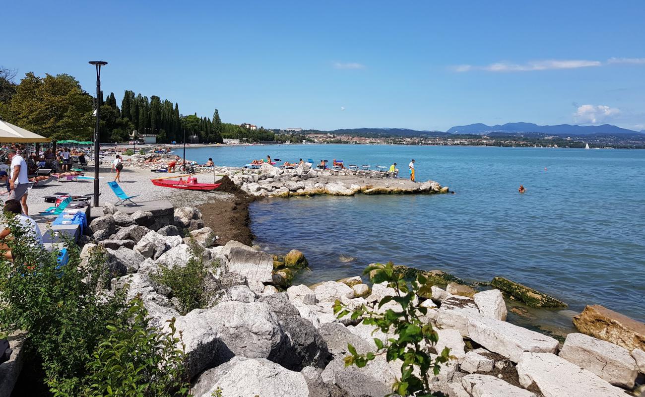
MULTIPOLYGON (((466 280, 504 276, 579 312, 604 305, 645 321, 645 150, 386 145, 194 148, 186 157, 241 166, 282 161, 398 163, 407 177, 456 194, 268 199, 253 203, 252 230, 271 252, 299 249, 314 283, 391 260, 466 280), (519 194, 520 184, 526 187, 519 194)), ((297 280, 297 281, 298 281, 297 280)), ((570 321, 573 313, 565 310, 570 321)), ((553 322, 557 323, 557 320, 553 322)))

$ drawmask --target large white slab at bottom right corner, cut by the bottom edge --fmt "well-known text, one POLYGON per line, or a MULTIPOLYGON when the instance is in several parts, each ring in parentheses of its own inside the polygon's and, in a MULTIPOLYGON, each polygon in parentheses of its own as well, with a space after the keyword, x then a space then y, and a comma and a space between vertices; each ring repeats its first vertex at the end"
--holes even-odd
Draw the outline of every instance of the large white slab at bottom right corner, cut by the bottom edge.
POLYGON ((622 389, 551 353, 524 352, 516 369, 520 384, 529 387, 535 382, 544 397, 626 396, 622 389))

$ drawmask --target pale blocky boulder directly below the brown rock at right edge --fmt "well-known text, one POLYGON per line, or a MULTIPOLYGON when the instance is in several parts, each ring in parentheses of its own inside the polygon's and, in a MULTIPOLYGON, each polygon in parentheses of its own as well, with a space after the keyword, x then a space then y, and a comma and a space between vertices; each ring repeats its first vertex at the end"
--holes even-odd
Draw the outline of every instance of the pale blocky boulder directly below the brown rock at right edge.
POLYGON ((560 356, 615 386, 631 389, 638 375, 627 349, 577 332, 567 335, 560 356))

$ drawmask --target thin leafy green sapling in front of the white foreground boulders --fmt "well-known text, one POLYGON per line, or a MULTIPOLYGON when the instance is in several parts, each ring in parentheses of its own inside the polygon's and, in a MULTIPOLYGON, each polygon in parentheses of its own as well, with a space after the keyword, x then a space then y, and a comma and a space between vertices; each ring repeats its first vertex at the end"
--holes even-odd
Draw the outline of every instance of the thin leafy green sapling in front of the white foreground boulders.
POLYGON ((439 335, 432 324, 424 320, 428 309, 414 305, 415 296, 428 296, 432 283, 422 275, 417 275, 409 284, 401 274, 396 274, 392 262, 382 265, 376 263, 367 267, 364 274, 370 274, 372 283, 386 282, 395 290, 394 296, 385 296, 378 303, 381 309, 386 303, 395 302, 398 305, 388 305, 382 313, 376 312, 366 305, 350 309, 340 301, 335 301, 333 312, 338 318, 351 314, 352 320, 362 318, 362 323, 374 325, 374 330, 381 330, 392 335, 387 340, 374 338, 377 346, 375 352, 358 354, 356 349, 348 344, 350 356, 345 357, 345 366, 356 365, 364 367, 376 356, 385 355, 387 361, 401 360, 401 379, 393 383, 393 393, 401 396, 429 397, 432 378, 439 374, 442 363, 450 360, 450 349, 447 347, 434 358, 428 349, 439 340, 439 335), (399 306, 401 310, 399 310, 399 306))

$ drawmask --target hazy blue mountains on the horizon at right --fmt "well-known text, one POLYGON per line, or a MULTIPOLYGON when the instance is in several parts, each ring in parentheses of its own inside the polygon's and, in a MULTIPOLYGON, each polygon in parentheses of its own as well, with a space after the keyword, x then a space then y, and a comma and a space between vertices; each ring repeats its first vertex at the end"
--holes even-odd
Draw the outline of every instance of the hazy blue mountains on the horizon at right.
MULTIPOLYGON (((490 134, 491 132, 521 133, 538 132, 541 134, 553 135, 617 135, 617 134, 639 134, 637 131, 616 127, 615 125, 537 125, 533 123, 506 123, 504 125, 486 125, 482 123, 470 125, 458 125, 450 128, 450 134, 490 134)), ((642 131, 641 131, 642 132, 642 131)))

